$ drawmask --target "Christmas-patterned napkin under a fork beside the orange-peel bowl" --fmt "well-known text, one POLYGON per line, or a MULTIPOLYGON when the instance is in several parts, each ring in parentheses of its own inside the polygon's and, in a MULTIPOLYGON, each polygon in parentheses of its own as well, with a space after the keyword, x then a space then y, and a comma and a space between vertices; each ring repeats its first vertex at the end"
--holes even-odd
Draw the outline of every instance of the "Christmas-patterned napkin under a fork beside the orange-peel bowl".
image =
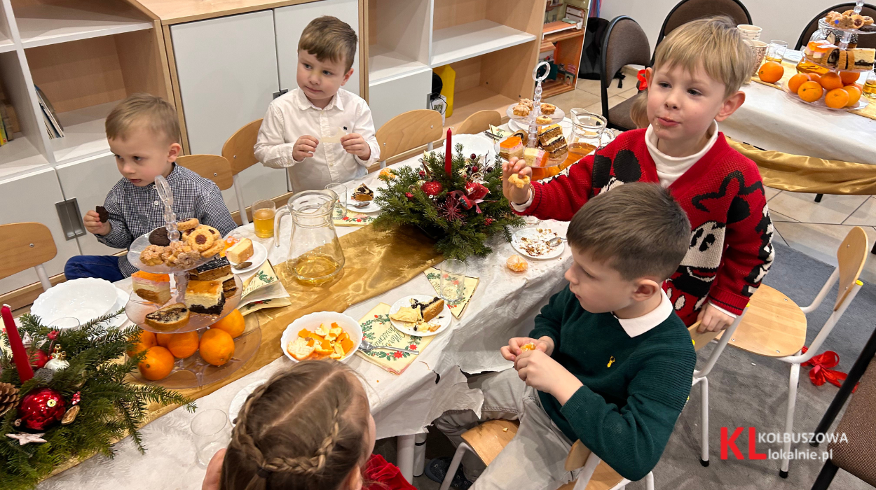
MULTIPOLYGON (((367 315, 359 320, 359 325, 362 325, 362 336, 372 346, 391 346, 412 351, 422 351, 434 339, 434 337, 414 337, 413 335, 399 332, 399 330, 392 326, 392 322, 389 321, 389 304, 385 303, 378 304, 373 310, 369 311, 367 315)), ((374 349, 369 353, 356 351, 356 354, 392 374, 404 373, 405 369, 417 358, 413 353, 401 353, 384 349, 374 349)))

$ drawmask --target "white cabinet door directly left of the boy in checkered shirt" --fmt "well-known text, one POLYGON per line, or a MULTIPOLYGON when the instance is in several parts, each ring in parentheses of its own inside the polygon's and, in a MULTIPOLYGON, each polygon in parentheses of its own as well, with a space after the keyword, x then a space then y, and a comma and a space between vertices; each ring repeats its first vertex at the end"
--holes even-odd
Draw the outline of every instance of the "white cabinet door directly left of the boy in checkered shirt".
MULTIPOLYGON (((58 172, 64 199, 76 198, 81 216, 85 216, 95 206, 103 206, 109 189, 122 179, 112 153, 58 165, 55 170, 58 172)), ((121 251, 97 242, 95 235, 90 233, 77 237, 76 241, 79 242, 83 255, 113 255, 121 251)))

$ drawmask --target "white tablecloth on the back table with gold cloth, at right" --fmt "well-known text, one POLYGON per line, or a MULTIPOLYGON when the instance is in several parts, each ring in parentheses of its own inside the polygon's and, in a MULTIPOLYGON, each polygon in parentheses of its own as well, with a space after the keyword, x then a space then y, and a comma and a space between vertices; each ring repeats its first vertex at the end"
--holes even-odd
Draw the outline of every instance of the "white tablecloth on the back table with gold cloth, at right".
POLYGON ((754 81, 742 90, 745 103, 719 125, 728 137, 764 150, 876 165, 876 121, 813 108, 754 81))

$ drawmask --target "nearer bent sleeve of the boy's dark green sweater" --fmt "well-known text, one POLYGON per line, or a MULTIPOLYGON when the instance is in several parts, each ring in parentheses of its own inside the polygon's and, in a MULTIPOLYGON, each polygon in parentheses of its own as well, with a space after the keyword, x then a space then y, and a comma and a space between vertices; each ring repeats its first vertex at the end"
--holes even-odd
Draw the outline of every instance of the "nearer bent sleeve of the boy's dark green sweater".
POLYGON ((696 354, 649 350, 630 381, 625 407, 618 409, 583 386, 561 409, 581 442, 632 481, 645 478, 660 460, 687 402, 696 365, 696 354))

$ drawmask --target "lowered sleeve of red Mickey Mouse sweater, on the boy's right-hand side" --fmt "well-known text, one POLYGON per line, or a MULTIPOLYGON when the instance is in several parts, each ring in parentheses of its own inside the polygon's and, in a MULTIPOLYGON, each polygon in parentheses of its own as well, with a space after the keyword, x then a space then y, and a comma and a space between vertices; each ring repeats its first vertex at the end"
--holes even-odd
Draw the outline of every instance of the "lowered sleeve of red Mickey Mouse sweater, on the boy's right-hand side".
POLYGON ((753 162, 745 171, 745 181, 756 181, 759 186, 752 193, 738 194, 733 200, 724 236, 726 248, 722 264, 709 291, 710 302, 737 315, 742 313, 748 298, 767 275, 774 257, 773 223, 763 184, 753 162), (733 221, 736 215, 745 218, 733 221))

